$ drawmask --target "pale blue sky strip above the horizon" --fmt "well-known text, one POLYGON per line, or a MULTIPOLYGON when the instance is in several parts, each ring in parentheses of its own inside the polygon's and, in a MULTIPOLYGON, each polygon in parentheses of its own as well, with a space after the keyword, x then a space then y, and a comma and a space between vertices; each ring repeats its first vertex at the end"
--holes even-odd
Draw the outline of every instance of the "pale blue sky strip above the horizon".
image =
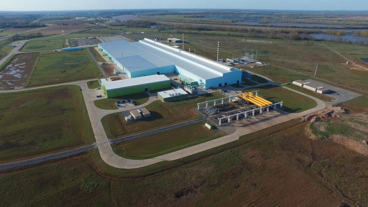
POLYGON ((139 8, 234 8, 273 10, 368 10, 368 0, 1 0, 0 11, 139 8), (171 3, 170 3, 171 2, 171 3))

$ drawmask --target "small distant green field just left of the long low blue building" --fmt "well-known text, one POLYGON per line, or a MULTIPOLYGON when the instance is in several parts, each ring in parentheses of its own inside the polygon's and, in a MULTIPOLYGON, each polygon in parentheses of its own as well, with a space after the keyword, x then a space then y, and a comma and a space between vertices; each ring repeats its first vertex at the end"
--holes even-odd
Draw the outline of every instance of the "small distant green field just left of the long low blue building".
POLYGON ((22 52, 61 49, 64 48, 64 44, 65 41, 63 40, 49 41, 40 39, 37 41, 27 42, 26 45, 22 48, 22 52))

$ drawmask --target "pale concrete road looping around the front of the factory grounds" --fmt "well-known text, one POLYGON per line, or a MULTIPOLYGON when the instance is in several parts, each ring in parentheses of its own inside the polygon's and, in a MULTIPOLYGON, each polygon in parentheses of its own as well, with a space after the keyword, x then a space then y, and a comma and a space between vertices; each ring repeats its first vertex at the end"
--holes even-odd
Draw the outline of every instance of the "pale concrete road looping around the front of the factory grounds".
MULTIPOLYGON (((94 79, 95 80, 95 79, 94 79)), ((27 88, 27 89, 20 89, 20 90, 6 90, 6 91, 0 91, 0 93, 5 93, 5 92, 16 92, 16 91, 25 91, 25 90, 33 90, 33 89, 38 89, 38 88, 46 88, 46 87, 53 87, 53 86, 57 86, 57 85, 79 85, 82 89, 82 94, 85 100, 85 104, 86 104, 86 108, 88 111, 88 115, 89 115, 89 119, 91 120, 91 124, 92 124, 92 129, 93 129, 93 133, 95 134, 95 139, 96 139, 96 144, 94 145, 89 145, 86 146, 87 148, 85 150, 88 150, 94 146, 97 145, 99 152, 100 152, 100 156, 103 159, 103 161, 105 161, 108 165, 110 166, 114 166, 116 168, 125 168, 125 169, 132 169, 132 168, 139 168, 139 167, 143 167, 143 166, 147 166, 147 165, 151 165, 163 160, 166 161, 172 161, 172 160, 176 160, 182 157, 186 157, 201 151, 205 151, 208 150, 210 148, 213 147, 217 147, 226 143, 230 143, 231 141, 235 141, 237 140, 240 136, 245 135, 245 134, 249 134, 252 133, 254 131, 258 131, 261 129, 265 129, 267 127, 270 126, 274 126, 276 124, 282 123, 282 122, 286 122, 290 119, 295 119, 297 117, 301 117, 304 115, 308 115, 310 113, 314 113, 318 110, 321 110, 323 108, 325 108, 325 103, 317 98, 311 97, 309 95, 303 94, 299 91, 295 91, 292 90, 290 88, 284 87, 287 90, 291 90, 294 92, 297 92, 299 94, 305 95, 309 98, 314 99, 314 101, 316 101, 317 106, 313 109, 309 109, 306 110, 304 112, 300 112, 300 113, 291 113, 291 114, 287 114, 284 112, 282 116, 276 116, 276 117, 269 117, 269 119, 265 120, 265 121, 261 121, 259 120, 259 116, 254 116, 251 117, 250 119, 253 120, 254 122, 259 122, 257 124, 251 124, 251 125, 247 125, 247 126, 241 126, 241 127, 236 127, 236 131, 233 134, 224 136, 224 137, 220 137, 217 138, 215 140, 211 140, 202 144, 198 144, 192 147, 188 147, 185 148, 183 150, 179 150, 179 151, 175 151, 175 152, 171 152, 169 154, 165 154, 159 157, 155 157, 155 158, 149 158, 149 159, 141 159, 141 160, 132 160, 132 159, 126 159, 123 157, 118 156, 117 154, 115 154, 111 148, 111 140, 109 140, 106 136, 105 130, 103 129, 102 123, 101 123, 101 119, 103 116, 106 116, 110 113, 116 113, 116 112, 122 112, 122 111, 126 111, 126 110, 132 110, 132 109, 137 109, 137 108, 142 108, 150 103, 152 103, 155 100, 158 100, 156 98, 156 94, 149 94, 149 100, 139 106, 134 106, 134 105, 128 105, 125 106, 124 108, 120 108, 117 110, 104 110, 104 109, 99 109, 95 106, 95 104, 93 103, 93 101, 95 101, 96 99, 96 95, 102 94, 102 90, 95 90, 95 89, 89 89, 86 85, 86 83, 89 80, 84 80, 84 81, 77 81, 77 82, 73 82, 73 83, 64 83, 64 84, 56 84, 56 85, 47 85, 47 86, 42 86, 42 87, 35 87, 35 88, 27 88)), ((269 84, 275 84, 273 82, 270 82, 269 84)), ((277 84, 278 85, 278 84, 277 84)), ((271 113, 265 113, 264 115, 267 116, 271 113)), ((262 118, 264 119, 264 118, 262 118)), ((78 153, 80 151, 76 150, 74 153, 78 153)), ((65 152, 60 152, 60 153, 65 153, 65 152)), ((57 154, 57 153, 56 153, 57 154)), ((68 155, 68 154, 67 154, 68 155)), ((42 158, 42 157, 40 157, 42 158)), ((33 158, 33 159, 37 159, 38 162, 40 161, 44 161, 46 159, 40 159, 38 160, 38 158, 33 158)), ((50 158, 52 159, 52 158, 50 158)), ((17 163, 20 163, 22 161, 19 162, 14 162, 13 165, 16 165, 17 163)), ((24 161, 23 161, 24 162, 24 161)), ((33 163, 33 162, 32 162, 33 163)), ((2 164, 1 166, 4 166, 6 164, 2 164)), ((18 165, 16 165, 18 166, 18 165)))

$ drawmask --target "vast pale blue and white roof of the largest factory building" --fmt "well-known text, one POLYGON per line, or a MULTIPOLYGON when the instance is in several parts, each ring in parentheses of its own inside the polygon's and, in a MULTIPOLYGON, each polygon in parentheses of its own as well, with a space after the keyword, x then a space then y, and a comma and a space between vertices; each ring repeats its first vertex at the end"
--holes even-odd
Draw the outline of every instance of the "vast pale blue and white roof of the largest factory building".
POLYGON ((133 43, 105 42, 99 45, 118 62, 123 62, 124 67, 131 72, 176 65, 207 80, 238 71, 236 68, 148 39, 133 43))

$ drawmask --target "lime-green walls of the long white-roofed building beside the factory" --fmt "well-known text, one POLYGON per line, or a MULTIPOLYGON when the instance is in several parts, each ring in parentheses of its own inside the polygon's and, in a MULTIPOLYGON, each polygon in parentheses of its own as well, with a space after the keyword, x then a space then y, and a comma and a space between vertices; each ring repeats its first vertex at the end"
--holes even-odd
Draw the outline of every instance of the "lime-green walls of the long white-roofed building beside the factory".
POLYGON ((113 89, 113 90, 108 90, 108 91, 105 91, 106 89, 104 87, 102 88, 105 91, 107 98, 112 98, 112 97, 118 97, 121 95, 129 95, 129 94, 136 94, 136 93, 144 92, 145 88, 148 88, 148 91, 153 91, 153 90, 169 88, 169 87, 170 87, 170 80, 159 82, 159 83, 151 83, 151 84, 127 87, 127 88, 118 88, 118 89, 113 89))

